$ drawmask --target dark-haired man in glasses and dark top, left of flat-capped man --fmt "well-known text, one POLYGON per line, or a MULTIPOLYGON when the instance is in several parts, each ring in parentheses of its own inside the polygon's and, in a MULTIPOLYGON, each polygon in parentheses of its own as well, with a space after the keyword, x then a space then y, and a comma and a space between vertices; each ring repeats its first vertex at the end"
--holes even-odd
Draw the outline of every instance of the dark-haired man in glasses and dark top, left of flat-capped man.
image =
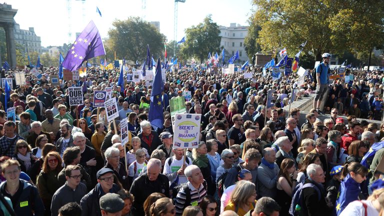
POLYGON ((57 216, 58 209, 66 203, 80 203, 81 198, 87 193, 85 184, 81 182, 79 165, 65 167, 65 183, 54 192, 50 210, 52 216, 57 216))

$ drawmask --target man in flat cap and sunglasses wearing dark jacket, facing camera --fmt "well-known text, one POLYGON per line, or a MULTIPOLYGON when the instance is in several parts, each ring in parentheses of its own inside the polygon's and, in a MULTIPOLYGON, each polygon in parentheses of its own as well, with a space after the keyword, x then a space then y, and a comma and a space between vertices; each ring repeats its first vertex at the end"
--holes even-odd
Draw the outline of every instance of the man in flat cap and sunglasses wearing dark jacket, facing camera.
POLYGON ((99 200, 106 193, 117 193, 120 187, 113 183, 113 170, 101 168, 96 173, 97 184, 86 195, 81 198, 81 215, 101 215, 99 200))

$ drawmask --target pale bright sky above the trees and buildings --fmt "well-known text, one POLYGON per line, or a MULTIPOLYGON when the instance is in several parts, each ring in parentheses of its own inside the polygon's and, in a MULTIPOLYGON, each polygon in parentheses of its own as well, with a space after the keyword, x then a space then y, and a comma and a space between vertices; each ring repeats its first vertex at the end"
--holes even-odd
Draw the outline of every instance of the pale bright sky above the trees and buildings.
MULTIPOLYGON (((81 32, 93 20, 101 37, 107 37, 108 29, 115 19, 128 16, 143 16, 147 21, 159 21, 160 32, 168 40, 173 39, 174 0, 71 0, 71 18, 68 19, 66 0, 6 0, 12 8, 18 9, 14 19, 20 28, 34 27, 41 37, 41 45, 62 45, 68 42, 68 21, 71 22, 72 39, 74 32, 81 32), (96 13, 96 6, 102 17, 96 13), (84 16, 83 16, 84 14, 84 16)), ((207 14, 219 25, 229 26, 236 22, 247 25, 251 12, 251 0, 186 0, 178 3, 177 40, 184 36, 184 29, 197 25, 207 14)))

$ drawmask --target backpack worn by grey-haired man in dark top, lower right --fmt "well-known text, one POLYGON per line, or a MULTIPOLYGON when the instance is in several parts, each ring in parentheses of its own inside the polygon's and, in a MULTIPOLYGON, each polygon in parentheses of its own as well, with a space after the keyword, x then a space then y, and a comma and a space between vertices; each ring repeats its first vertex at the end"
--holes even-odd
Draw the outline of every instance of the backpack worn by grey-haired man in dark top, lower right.
POLYGON ((296 187, 293 190, 292 202, 289 207, 290 216, 302 215, 302 213, 300 213, 300 210, 302 210, 302 207, 304 206, 303 200, 302 200, 302 190, 307 187, 314 188, 317 192, 317 198, 318 200, 320 200, 321 192, 316 185, 314 185, 313 183, 300 182, 299 184, 296 185, 296 187))

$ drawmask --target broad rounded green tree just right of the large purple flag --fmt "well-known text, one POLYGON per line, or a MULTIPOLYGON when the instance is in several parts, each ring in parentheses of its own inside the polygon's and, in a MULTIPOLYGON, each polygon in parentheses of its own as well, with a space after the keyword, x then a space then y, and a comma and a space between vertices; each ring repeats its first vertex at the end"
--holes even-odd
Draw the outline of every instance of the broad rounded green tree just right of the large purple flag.
POLYGON ((115 20, 109 29, 109 49, 116 51, 117 58, 140 60, 146 55, 146 44, 149 44, 153 58, 163 56, 164 35, 149 22, 140 17, 129 17, 126 20, 115 20))

